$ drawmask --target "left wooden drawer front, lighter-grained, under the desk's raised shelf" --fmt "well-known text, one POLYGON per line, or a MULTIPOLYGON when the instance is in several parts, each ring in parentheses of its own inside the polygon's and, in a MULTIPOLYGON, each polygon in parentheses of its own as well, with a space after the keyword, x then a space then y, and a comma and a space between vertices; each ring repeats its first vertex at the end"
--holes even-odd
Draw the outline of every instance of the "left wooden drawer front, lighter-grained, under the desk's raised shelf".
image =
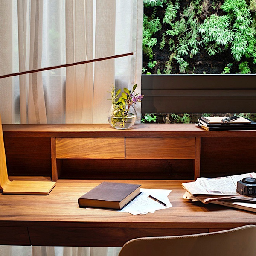
POLYGON ((124 138, 56 138, 56 158, 124 159, 124 138))

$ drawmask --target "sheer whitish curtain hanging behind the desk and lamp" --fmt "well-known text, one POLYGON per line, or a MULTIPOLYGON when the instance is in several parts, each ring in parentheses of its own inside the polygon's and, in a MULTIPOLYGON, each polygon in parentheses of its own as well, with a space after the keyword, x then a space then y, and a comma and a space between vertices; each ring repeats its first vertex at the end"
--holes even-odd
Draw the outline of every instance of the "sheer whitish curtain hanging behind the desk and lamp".
MULTIPOLYGON (((0 0, 0 75, 134 52, 115 60, 0 79, 3 123, 106 123, 110 87, 138 84, 143 0, 0 0)), ((140 105, 137 103, 138 122, 140 105)), ((0 246, 0 256, 114 256, 119 248, 0 246)))

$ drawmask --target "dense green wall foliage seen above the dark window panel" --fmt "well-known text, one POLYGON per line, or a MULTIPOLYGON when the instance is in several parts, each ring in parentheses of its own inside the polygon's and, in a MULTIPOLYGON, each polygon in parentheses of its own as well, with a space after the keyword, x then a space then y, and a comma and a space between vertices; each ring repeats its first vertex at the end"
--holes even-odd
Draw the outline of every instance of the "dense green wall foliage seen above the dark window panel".
POLYGON ((191 0, 189 5, 182 0, 144 0, 144 7, 151 10, 143 18, 143 53, 149 57, 149 68, 157 61, 158 73, 177 72, 176 67, 179 73, 197 73, 191 59, 198 60, 206 51, 209 58, 231 52, 232 69, 224 63, 220 73, 255 72, 251 65, 256 64, 256 0, 191 0), (169 48, 165 64, 155 59, 157 48, 169 48))

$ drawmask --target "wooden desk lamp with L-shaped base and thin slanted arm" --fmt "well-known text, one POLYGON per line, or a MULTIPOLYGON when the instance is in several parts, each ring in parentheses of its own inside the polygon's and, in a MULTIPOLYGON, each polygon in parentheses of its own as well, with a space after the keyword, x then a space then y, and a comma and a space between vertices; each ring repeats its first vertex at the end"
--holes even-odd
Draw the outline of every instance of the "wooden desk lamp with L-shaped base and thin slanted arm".
MULTIPOLYGON (((133 53, 130 52, 130 53, 125 53, 121 55, 113 55, 105 58, 97 58, 97 59, 92 59, 87 61, 63 64, 63 65, 54 66, 54 67, 45 67, 37 70, 28 70, 28 71, 23 71, 19 73, 12 73, 8 75, 0 76, 0 79, 10 77, 10 76, 18 76, 18 75, 35 73, 35 72, 40 72, 45 70, 52 70, 52 69, 61 68, 61 67, 70 67, 70 66, 86 64, 90 62, 104 61, 112 58, 119 58, 119 57, 132 55, 132 54, 133 53)), ((7 165, 6 165, 6 154, 5 154, 4 142, 3 142, 3 128, 2 128, 1 115, 0 115, 0 189, 2 190, 3 194, 48 195, 54 186, 55 186, 55 182, 53 181, 34 181, 34 180, 11 181, 9 180, 7 165)))

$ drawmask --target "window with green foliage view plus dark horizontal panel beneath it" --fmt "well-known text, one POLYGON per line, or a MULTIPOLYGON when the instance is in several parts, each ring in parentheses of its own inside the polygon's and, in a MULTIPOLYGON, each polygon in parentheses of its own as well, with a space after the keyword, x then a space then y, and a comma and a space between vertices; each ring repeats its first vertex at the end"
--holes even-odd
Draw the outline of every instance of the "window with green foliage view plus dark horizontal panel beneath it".
POLYGON ((142 113, 254 113, 253 3, 144 0, 142 113))

